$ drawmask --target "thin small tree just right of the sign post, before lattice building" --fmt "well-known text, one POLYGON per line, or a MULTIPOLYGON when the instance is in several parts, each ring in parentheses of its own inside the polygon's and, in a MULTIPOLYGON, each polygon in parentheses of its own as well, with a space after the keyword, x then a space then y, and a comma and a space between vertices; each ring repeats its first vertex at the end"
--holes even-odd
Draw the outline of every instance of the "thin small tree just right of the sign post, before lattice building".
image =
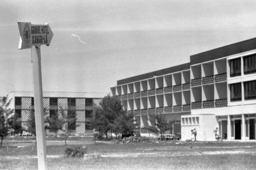
POLYGON ((45 119, 45 130, 49 130, 50 132, 55 133, 55 137, 57 137, 57 132, 62 130, 63 125, 65 124, 65 115, 64 111, 60 111, 61 114, 58 114, 57 110, 54 110, 54 113, 50 114, 45 119))

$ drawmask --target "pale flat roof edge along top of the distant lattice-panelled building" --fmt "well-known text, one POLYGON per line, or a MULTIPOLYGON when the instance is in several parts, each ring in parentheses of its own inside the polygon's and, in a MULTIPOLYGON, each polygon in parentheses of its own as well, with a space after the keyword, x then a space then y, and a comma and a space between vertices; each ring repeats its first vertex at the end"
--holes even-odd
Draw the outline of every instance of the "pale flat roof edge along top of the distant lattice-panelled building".
MULTIPOLYGON (((103 98, 106 93, 44 91, 45 98, 103 98)), ((12 91, 8 96, 33 97, 33 91, 12 91)))

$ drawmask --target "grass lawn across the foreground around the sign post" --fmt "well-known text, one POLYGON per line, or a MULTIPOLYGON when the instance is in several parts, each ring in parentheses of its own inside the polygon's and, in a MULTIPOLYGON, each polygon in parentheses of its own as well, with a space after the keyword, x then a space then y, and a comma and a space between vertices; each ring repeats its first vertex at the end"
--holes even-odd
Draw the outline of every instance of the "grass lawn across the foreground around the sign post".
MULTIPOLYGON (((160 142, 86 146, 89 153, 98 153, 102 157, 90 160, 48 157, 49 169, 255 169, 256 167, 256 143, 253 142, 187 144, 160 142), (220 152, 222 154, 219 154, 220 152)), ((65 146, 47 146, 47 156, 63 155, 64 149, 65 146)), ((32 146, 1 147, 0 169, 37 169, 35 156, 36 149, 32 146), (22 156, 33 156, 33 158, 22 156)))

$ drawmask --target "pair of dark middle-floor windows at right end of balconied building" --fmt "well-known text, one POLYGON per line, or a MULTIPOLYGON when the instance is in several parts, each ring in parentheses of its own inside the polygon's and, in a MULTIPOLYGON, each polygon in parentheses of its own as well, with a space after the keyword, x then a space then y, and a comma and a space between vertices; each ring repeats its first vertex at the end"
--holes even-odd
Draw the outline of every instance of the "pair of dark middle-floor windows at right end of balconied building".
MULTIPOLYGON (((245 99, 256 99, 256 81, 243 82, 245 99)), ((230 101, 241 101, 241 82, 230 84, 230 101)))

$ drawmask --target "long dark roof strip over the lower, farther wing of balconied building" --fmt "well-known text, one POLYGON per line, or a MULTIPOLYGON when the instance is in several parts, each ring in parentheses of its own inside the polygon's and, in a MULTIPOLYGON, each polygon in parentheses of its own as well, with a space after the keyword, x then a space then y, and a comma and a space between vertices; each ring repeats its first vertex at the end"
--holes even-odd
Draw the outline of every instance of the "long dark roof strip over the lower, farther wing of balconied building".
POLYGON ((126 79, 121 79, 119 81, 117 81, 117 86, 121 85, 121 84, 127 84, 129 82, 135 82, 135 81, 140 81, 143 79, 149 79, 151 77, 154 76, 162 76, 164 74, 170 74, 172 72, 178 72, 178 71, 183 71, 183 70, 187 70, 190 69, 190 63, 185 63, 185 64, 181 64, 181 65, 175 65, 173 67, 168 67, 166 69, 161 69, 158 71, 153 71, 153 72, 148 72, 146 74, 141 74, 138 76, 133 76, 133 77, 128 77, 126 79))

